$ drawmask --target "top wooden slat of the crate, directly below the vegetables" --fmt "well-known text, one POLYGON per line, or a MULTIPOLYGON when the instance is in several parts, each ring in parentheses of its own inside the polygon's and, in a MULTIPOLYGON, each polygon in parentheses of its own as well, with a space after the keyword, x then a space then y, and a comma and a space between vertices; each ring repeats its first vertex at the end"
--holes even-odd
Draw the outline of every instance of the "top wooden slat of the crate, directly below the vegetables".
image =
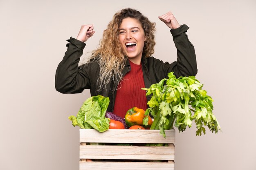
POLYGON ((175 143, 175 130, 165 130, 166 138, 159 130, 121 130, 109 129, 98 132, 95 129, 80 129, 80 142, 88 143, 175 143))

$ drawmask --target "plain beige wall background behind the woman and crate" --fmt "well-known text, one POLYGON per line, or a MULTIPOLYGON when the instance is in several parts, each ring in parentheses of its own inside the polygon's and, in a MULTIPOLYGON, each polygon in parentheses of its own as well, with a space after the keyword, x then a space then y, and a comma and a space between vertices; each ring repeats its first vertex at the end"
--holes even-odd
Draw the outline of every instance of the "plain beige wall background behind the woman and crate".
POLYGON ((95 49, 112 15, 139 9, 157 24, 155 54, 168 62, 176 51, 157 16, 172 11, 190 26, 198 75, 214 99, 222 131, 195 136, 195 125, 176 131, 176 170, 256 170, 255 0, 1 0, 0 169, 78 170, 79 128, 67 119, 90 97, 55 91, 54 76, 70 36, 81 24, 96 33, 95 49))

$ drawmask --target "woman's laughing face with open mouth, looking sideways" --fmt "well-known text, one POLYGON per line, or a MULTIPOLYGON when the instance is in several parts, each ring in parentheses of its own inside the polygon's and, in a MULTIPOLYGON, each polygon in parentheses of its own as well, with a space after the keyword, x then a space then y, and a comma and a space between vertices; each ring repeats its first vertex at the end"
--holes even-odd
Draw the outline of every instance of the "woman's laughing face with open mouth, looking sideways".
POLYGON ((119 41, 129 60, 140 64, 146 40, 141 23, 135 18, 124 18, 119 26, 119 41))

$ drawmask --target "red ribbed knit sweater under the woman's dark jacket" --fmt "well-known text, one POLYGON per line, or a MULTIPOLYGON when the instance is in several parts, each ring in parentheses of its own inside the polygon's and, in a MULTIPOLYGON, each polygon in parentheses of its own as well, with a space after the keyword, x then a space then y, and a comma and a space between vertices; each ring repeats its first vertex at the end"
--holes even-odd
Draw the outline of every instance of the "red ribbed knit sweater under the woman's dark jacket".
POLYGON ((119 82, 113 112, 123 117, 133 107, 147 109, 146 91, 142 66, 130 62, 131 70, 119 82))

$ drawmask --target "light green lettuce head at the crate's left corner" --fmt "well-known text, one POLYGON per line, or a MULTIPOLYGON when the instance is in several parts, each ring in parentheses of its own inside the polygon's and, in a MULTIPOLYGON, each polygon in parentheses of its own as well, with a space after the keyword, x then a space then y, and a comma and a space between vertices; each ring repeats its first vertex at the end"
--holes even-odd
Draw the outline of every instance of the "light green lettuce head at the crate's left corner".
POLYGON ((101 95, 92 96, 85 100, 76 117, 68 117, 73 126, 79 126, 84 129, 96 129, 104 132, 109 129, 109 119, 105 118, 109 104, 109 98, 101 95))

